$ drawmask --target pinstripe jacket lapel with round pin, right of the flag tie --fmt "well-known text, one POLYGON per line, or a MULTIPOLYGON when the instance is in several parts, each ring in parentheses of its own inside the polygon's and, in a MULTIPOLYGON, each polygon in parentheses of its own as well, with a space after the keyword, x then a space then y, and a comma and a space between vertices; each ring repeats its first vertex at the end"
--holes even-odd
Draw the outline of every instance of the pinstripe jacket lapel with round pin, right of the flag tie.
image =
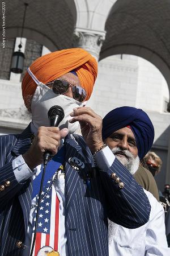
POLYGON ((66 154, 65 154, 65 196, 66 196, 66 211, 69 210, 73 199, 75 198, 75 193, 78 191, 80 185, 83 184, 83 179, 86 178, 87 173, 91 171, 91 163, 87 163, 82 152, 82 147, 76 142, 73 135, 69 136, 65 140, 66 154), (81 160, 85 167, 81 171, 76 171, 71 167, 69 159, 76 157, 81 160))

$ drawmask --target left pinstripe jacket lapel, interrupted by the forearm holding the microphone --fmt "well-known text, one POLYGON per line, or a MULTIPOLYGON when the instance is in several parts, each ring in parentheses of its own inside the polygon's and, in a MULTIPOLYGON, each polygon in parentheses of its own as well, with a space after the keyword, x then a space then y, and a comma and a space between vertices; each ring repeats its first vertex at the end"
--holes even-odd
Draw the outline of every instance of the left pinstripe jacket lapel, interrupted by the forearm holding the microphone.
MULTIPOLYGON (((12 148, 11 154, 19 156, 27 152, 28 148, 31 146, 31 129, 29 126, 23 131, 22 134, 18 135, 18 141, 12 148)), ((19 201, 23 210, 25 232, 27 232, 28 220, 29 220, 29 210, 31 207, 31 195, 32 195, 32 177, 24 184, 23 188, 19 193, 19 201)))

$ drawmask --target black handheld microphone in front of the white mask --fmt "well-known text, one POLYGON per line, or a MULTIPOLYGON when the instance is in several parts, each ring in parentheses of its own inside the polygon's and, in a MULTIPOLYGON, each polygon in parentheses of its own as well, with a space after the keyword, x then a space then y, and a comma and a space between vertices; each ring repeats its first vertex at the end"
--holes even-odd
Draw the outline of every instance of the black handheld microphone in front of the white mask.
MULTIPOLYGON (((63 111, 63 108, 61 108, 61 106, 57 106, 57 105, 52 106, 48 110, 48 119, 50 122, 50 126, 57 127, 59 123, 62 121, 62 119, 64 118, 64 116, 65 116, 65 113, 63 111)), ((47 151, 44 153, 44 164, 48 162, 51 154, 52 153, 50 151, 47 151)))

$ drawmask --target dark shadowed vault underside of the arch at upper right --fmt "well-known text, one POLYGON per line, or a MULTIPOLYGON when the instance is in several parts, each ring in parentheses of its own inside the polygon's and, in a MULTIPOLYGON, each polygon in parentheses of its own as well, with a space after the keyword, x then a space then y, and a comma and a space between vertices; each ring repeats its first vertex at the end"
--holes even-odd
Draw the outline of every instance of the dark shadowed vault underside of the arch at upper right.
POLYGON ((123 53, 143 57, 162 72, 170 91, 169 12, 168 0, 161 5, 154 0, 117 0, 105 23, 100 59, 123 53))

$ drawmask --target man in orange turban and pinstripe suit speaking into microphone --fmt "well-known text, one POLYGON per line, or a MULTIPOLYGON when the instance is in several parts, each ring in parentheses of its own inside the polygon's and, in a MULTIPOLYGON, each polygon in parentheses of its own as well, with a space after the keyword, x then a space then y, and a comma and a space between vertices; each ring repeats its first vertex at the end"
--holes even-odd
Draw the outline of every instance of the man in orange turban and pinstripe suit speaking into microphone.
POLYGON ((96 60, 78 48, 44 55, 25 73, 32 122, 0 139, 0 255, 107 256, 108 218, 126 228, 148 221, 143 189, 115 161, 101 117, 85 106, 96 76, 96 60))

